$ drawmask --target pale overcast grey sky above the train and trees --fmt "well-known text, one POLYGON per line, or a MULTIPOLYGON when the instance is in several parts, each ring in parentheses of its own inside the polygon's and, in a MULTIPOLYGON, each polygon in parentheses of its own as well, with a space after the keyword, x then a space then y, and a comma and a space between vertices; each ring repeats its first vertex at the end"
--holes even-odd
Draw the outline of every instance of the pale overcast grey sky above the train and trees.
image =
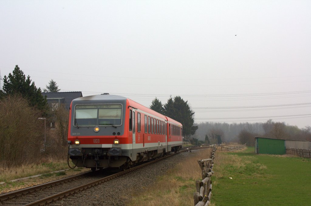
POLYGON ((53 79, 62 92, 109 92, 145 106, 180 95, 196 122, 303 128, 311 125, 310 8, 307 0, 2 0, 1 75, 19 65, 41 89, 53 79))

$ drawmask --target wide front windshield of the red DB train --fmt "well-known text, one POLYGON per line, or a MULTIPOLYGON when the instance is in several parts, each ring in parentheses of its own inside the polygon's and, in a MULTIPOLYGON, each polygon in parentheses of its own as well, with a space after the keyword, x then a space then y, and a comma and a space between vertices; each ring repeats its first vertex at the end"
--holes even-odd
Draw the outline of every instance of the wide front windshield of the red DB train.
POLYGON ((76 105, 74 126, 120 126, 122 105, 76 105))

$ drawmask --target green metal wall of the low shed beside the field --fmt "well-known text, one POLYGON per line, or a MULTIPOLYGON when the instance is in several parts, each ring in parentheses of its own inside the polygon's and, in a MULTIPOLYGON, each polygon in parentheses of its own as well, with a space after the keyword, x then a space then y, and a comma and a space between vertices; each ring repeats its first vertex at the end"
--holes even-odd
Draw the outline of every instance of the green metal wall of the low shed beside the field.
POLYGON ((255 153, 269 155, 286 154, 285 140, 255 137, 255 153))

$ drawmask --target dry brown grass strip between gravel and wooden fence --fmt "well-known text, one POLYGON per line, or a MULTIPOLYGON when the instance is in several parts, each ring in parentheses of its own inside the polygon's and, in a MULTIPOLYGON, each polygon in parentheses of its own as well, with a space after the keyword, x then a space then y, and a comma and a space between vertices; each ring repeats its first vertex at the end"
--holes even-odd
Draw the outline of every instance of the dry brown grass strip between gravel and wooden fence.
POLYGON ((167 175, 159 177, 153 188, 134 196, 128 205, 193 205, 195 180, 202 179, 197 160, 210 158, 210 155, 210 149, 191 153, 190 157, 170 169, 167 175))

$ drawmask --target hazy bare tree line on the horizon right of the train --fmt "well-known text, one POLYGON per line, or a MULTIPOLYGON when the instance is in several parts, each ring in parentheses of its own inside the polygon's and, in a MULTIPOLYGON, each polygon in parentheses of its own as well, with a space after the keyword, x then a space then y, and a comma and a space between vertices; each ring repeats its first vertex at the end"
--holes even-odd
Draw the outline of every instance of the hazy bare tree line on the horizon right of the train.
POLYGON ((311 141, 311 127, 300 129, 297 126, 287 125, 285 122, 267 120, 265 123, 199 123, 198 129, 191 138, 194 141, 211 144, 221 141, 239 142, 241 144, 254 143, 254 137, 267 137, 275 139, 290 139, 311 141))

